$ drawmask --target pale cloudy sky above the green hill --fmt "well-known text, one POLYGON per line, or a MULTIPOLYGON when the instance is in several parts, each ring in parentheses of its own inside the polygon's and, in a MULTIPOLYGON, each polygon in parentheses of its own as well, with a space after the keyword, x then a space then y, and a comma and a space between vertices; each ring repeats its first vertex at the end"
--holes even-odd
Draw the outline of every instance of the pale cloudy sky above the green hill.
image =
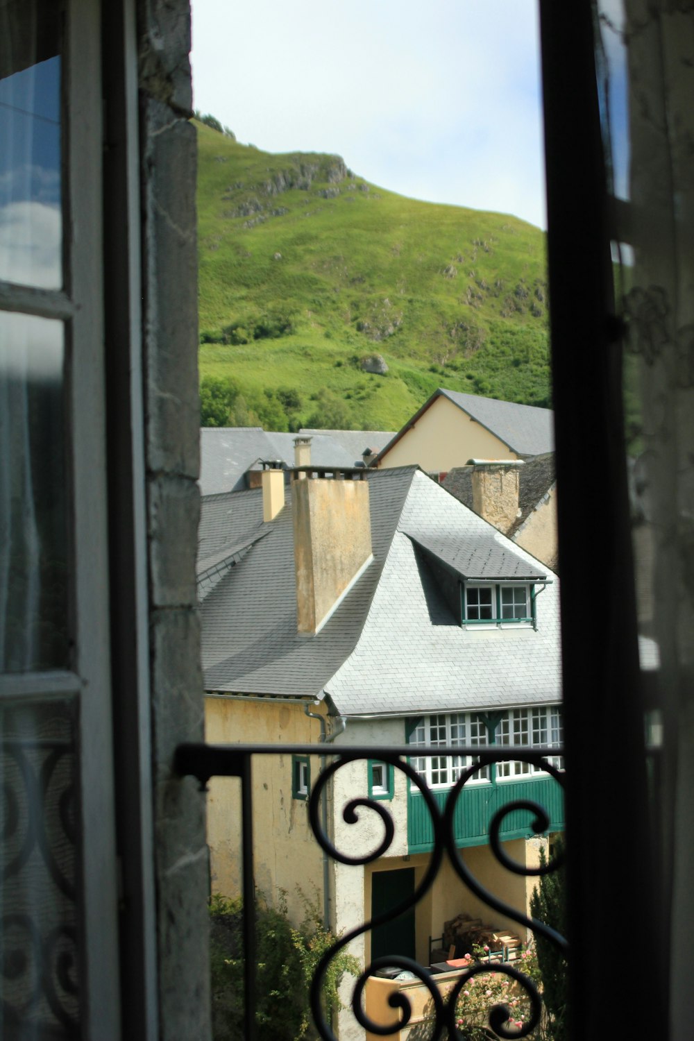
POLYGON ((192 0, 191 61, 243 144, 546 227, 537 0, 192 0))

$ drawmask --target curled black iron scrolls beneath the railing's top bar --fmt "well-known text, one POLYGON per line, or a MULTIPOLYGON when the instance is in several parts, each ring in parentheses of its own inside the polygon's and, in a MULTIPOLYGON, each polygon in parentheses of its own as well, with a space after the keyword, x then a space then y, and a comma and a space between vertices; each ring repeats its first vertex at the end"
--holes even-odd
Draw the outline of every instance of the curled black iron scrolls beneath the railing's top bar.
MULTIPOLYGON (((427 754, 422 748, 417 748, 417 755, 427 754)), ((434 754, 434 753, 432 753, 434 754)), ((435 754, 440 754, 440 750, 436 750, 435 754)), ((552 750, 552 754, 557 754, 556 750, 552 750)), ((546 755, 546 754, 545 754, 546 755)), ((564 777, 563 773, 556 769, 551 764, 547 763, 542 755, 537 753, 522 753, 520 750, 505 750, 504 752, 494 753, 481 753, 477 755, 477 762, 465 769, 459 777, 456 784, 453 786, 448 792, 443 808, 443 812, 439 809, 436 801, 434 799, 430 789, 427 784, 419 777, 417 771, 408 763, 405 762, 399 755, 386 753, 379 751, 379 761, 392 764, 392 766, 402 772, 404 772, 410 782, 418 789, 422 795, 425 803, 427 805, 428 811, 431 815, 433 833, 434 833, 434 843, 433 849, 430 858, 429 867, 427 868, 425 875, 415 888, 414 893, 408 899, 401 902, 394 908, 390 908, 388 911, 376 915, 368 921, 363 922, 356 929, 351 930, 345 935, 341 936, 332 947, 330 947, 316 966, 313 979, 311 981, 310 988, 310 1004, 313 1019, 318 1031, 318 1034, 324 1039, 324 1041, 336 1041, 336 1036, 333 1033, 330 1024, 327 1022, 324 1010, 320 1001, 320 993, 323 989, 324 980, 328 971, 328 967, 332 959, 344 947, 346 947, 352 940, 356 937, 366 933, 369 930, 376 929, 387 921, 400 917, 406 911, 414 908, 425 893, 431 888, 434 880, 438 873, 441 861, 443 859, 443 854, 446 852, 451 859, 451 863, 456 870, 457 874, 464 882, 464 884, 485 904, 499 913, 508 916, 513 921, 518 922, 518 924, 525 925, 534 931, 536 934, 544 936, 552 944, 555 944, 559 950, 566 957, 568 945, 563 936, 557 933, 549 925, 544 922, 539 921, 535 918, 529 918, 528 916, 518 912, 515 908, 510 907, 504 900, 494 896, 490 893, 480 882, 471 874, 464 864, 463 859, 456 845, 455 839, 455 829, 454 829, 454 815, 456 804, 458 797, 463 790, 465 784, 479 772, 481 767, 489 765, 491 763, 498 763, 505 761, 513 762, 529 762, 532 765, 539 766, 543 771, 549 773, 555 780, 564 787, 564 777)), ((322 771, 318 780, 316 781, 313 790, 309 798, 309 820, 311 829, 315 836, 316 841, 324 849, 324 852, 331 857, 333 860, 345 865, 361 865, 372 863, 380 857, 383 857, 388 848, 390 847, 394 834, 395 828, 390 813, 384 808, 382 802, 377 802, 372 798, 358 797, 350 799, 342 809, 342 818, 345 823, 352 824, 359 820, 359 810, 362 808, 368 809, 380 817, 384 834, 381 842, 375 849, 362 856, 354 856, 344 854, 339 850, 330 838, 322 831, 320 827, 320 796, 322 793, 331 780, 332 777, 344 765, 350 762, 355 762, 360 759, 368 759, 359 753, 341 753, 339 758, 330 763, 322 771)), ((517 864, 511 858, 507 856, 500 844, 500 831, 502 822, 504 817, 515 811, 515 810, 526 810, 534 814, 534 819, 531 824, 531 829, 535 834, 542 834, 550 824, 549 818, 546 811, 538 803, 529 799, 516 799, 509 802, 503 806, 493 815, 490 822, 490 847, 499 861, 499 863, 506 867, 508 870, 516 874, 522 875, 541 875, 549 873, 550 871, 558 870, 561 867, 563 859, 555 858, 554 861, 545 864, 544 866, 538 866, 537 868, 528 868, 523 865, 517 864)), ((451 1038, 463 1038, 463 1035, 458 1029, 458 1023, 456 1019, 456 1004, 463 992, 463 989, 468 981, 470 981, 477 974, 484 972, 489 973, 503 973, 512 980, 514 980, 525 992, 529 1001, 531 1014, 528 1020, 522 1024, 521 1027, 514 1027, 512 1031, 507 1027, 507 1022, 512 1018, 511 1010, 508 1006, 504 1004, 494 1005, 489 1010, 489 1027, 496 1037, 500 1038, 522 1038, 526 1037, 540 1021, 541 1011, 542 1011, 542 999, 538 990, 533 983, 533 981, 523 972, 514 968, 511 965, 504 965, 497 963, 485 963, 471 965, 469 968, 465 969, 460 977, 456 981, 451 993, 447 998, 444 999, 439 992, 435 982, 434 976, 430 973, 423 966, 419 965, 417 962, 410 958, 404 956, 392 956, 386 958, 378 958, 370 962, 369 965, 365 966, 364 970, 358 976, 354 992, 352 996, 352 1010, 355 1018, 360 1023, 360 1025, 370 1032, 371 1034, 379 1036, 387 1036, 393 1034, 397 1031, 403 1030, 410 1021, 412 1017, 412 1007, 409 998, 402 992, 395 991, 389 998, 388 1004, 393 1008, 393 1011, 399 1014, 399 1018, 386 1025, 381 1025, 379 1023, 370 1020, 362 1005, 362 998, 364 994, 364 989, 366 982, 370 975, 374 974, 378 969, 389 967, 400 967, 402 970, 411 971, 426 987, 431 996, 432 1009, 433 1009, 433 1025, 431 1031, 431 1041, 438 1041, 447 1031, 451 1038)))

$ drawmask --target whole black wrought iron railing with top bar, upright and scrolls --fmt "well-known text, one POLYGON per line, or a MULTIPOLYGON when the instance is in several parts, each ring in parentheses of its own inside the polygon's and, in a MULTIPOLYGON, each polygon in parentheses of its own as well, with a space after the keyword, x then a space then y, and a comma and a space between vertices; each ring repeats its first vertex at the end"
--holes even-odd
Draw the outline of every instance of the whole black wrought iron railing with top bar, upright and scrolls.
MULTIPOLYGON (((451 864, 456 873, 465 886, 490 909, 497 912, 521 926, 533 931, 534 935, 548 940, 557 951, 566 957, 567 942, 555 929, 546 922, 529 917, 517 908, 512 907, 497 895, 489 892, 480 881, 474 878, 465 864, 463 857, 457 846, 456 839, 456 807, 459 796, 465 785, 481 767, 499 762, 526 762, 540 768, 546 775, 564 788, 564 773, 558 770, 548 757, 557 757, 563 754, 563 750, 552 747, 508 747, 500 745, 487 745, 474 747, 436 747, 428 748, 417 746, 417 758, 422 756, 445 756, 452 758, 471 756, 473 764, 464 769, 456 783, 447 792, 444 804, 434 797, 432 791, 427 786, 423 779, 410 765, 408 756, 412 754, 412 748, 408 746, 383 748, 375 745, 352 745, 344 747, 330 746, 330 751, 325 744, 202 744, 188 743, 178 747, 175 760, 176 772, 181 776, 192 776, 200 782, 201 788, 205 789, 207 782, 213 777, 234 777, 240 780, 241 785, 241 837, 242 837, 242 896, 243 896, 243 936, 245 936, 245 1038, 253 1041, 257 1036, 255 1021, 256 1001, 256 935, 255 935, 255 886, 254 886, 254 861, 253 861, 253 791, 251 783, 251 760, 254 756, 277 756, 278 754, 288 756, 320 756, 330 757, 330 762, 319 773, 312 787, 308 801, 308 814, 310 827, 313 835, 324 853, 334 861, 345 865, 371 864, 379 858, 384 857, 390 848, 395 834, 393 818, 383 801, 365 796, 355 796, 349 799, 341 809, 342 819, 346 824, 357 823, 359 811, 366 808, 378 814, 383 824, 383 838, 376 848, 360 856, 349 854, 338 849, 331 841, 325 831, 325 820, 322 820, 320 801, 327 795, 327 786, 335 777, 337 771, 348 763, 358 760, 374 761, 392 764, 394 769, 402 771, 409 779, 409 784, 413 790, 420 794, 425 801, 432 821, 433 842, 429 865, 425 870, 423 878, 416 886, 412 896, 392 907, 387 912, 377 914, 370 920, 364 921, 356 929, 352 929, 335 940, 332 947, 326 951, 318 962, 310 989, 310 1005, 316 1030, 324 1041, 335 1041, 335 1034, 328 1022, 322 1007, 322 989, 326 973, 331 961, 348 945, 360 935, 369 930, 377 930, 388 921, 392 921, 408 911, 411 911, 416 904, 421 900, 425 894, 431 889, 438 874, 443 857, 447 854, 451 864)), ((499 786, 504 782, 499 783, 499 786)), ((517 793, 517 786, 513 788, 513 794, 517 793)), ((522 810, 529 814, 529 831, 535 835, 542 835, 550 828, 550 816, 544 806, 532 798, 511 798, 497 809, 489 824, 489 845, 494 857, 499 864, 508 871, 517 875, 539 877, 558 870, 563 863, 560 856, 551 858, 547 863, 536 867, 528 867, 512 860, 503 847, 502 835, 504 831, 504 819, 510 813, 522 810)), ((440 993, 435 983, 435 974, 426 966, 420 965, 409 957, 402 955, 388 955, 372 959, 364 967, 354 986, 352 996, 352 1010, 356 1020, 361 1026, 374 1035, 387 1036, 402 1031, 410 1021, 412 1008, 406 994, 399 993, 390 1000, 393 1008, 393 1020, 384 1025, 374 1022, 366 1015, 363 1007, 364 990, 366 982, 370 975, 379 969, 386 967, 399 967, 407 970, 427 988, 430 1008, 432 1010, 429 1020, 429 1038, 431 1041, 439 1041, 446 1036, 463 1038, 456 1022, 456 1007, 460 995, 473 976, 484 973, 502 973, 515 982, 515 985, 524 992, 529 1006, 528 1015, 521 1026, 514 1024, 509 1026, 510 1010, 506 1005, 495 1005, 489 1010, 488 1027, 492 1032, 491 1036, 500 1038, 521 1038, 532 1034, 540 1023, 542 1015, 542 995, 538 991, 535 983, 530 976, 511 964, 503 962, 470 962, 467 967, 463 967, 459 976, 455 977, 455 983, 451 991, 444 996, 440 993)))

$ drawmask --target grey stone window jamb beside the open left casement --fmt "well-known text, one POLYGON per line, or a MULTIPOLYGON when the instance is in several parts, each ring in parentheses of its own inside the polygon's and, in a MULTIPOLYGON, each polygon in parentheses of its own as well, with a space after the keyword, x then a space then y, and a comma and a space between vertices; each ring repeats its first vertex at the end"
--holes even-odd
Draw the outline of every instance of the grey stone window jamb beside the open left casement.
POLYGON ((204 796, 172 775, 203 737, 195 556, 199 518, 196 134, 187 0, 137 4, 150 682, 159 1036, 209 1037, 204 796))

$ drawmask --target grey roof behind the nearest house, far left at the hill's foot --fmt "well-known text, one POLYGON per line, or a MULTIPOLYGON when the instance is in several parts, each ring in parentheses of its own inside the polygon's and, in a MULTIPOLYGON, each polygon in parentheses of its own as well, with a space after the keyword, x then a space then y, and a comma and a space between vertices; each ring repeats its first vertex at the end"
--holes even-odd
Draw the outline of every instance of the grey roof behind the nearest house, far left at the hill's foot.
MULTIPOLYGON (((203 496, 246 490, 245 475, 258 460, 294 464, 297 434, 261 427, 203 427, 200 431, 200 490, 203 496)), ((353 466, 351 454, 334 438, 318 434, 311 441, 316 466, 353 466)))

